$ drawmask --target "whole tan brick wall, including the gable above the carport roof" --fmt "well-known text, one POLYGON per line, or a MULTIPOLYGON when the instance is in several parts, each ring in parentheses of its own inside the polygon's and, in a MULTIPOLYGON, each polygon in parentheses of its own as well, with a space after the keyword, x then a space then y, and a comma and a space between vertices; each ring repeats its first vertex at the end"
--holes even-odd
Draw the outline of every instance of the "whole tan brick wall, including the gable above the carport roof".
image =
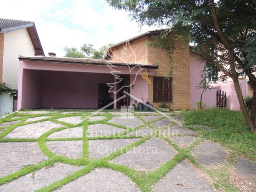
MULTIPOLYGON (((170 69, 168 54, 160 48, 148 46, 154 36, 144 37, 132 42, 131 47, 135 52, 138 64, 159 65, 154 76, 166 77, 170 69)), ((169 103, 172 110, 190 109, 190 52, 189 44, 184 44, 182 40, 175 40, 175 50, 172 54, 173 60, 173 102, 169 103)), ((123 46, 114 48, 112 56, 113 61, 121 61, 117 58, 122 56, 123 46), (116 56, 115 56, 116 55, 116 56)), ((132 51, 128 49, 126 60, 133 62, 132 51)), ((153 76, 149 76, 153 82, 153 76)), ((148 85, 148 102, 158 108, 160 103, 153 103, 153 84, 148 85)))

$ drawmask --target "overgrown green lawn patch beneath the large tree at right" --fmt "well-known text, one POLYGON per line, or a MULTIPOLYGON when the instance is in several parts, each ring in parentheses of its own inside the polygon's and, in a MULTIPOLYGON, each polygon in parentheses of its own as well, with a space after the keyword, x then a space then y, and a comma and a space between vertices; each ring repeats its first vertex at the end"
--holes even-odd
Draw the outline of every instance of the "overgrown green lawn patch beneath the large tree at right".
POLYGON ((239 156, 256 161, 256 134, 248 131, 241 112, 228 109, 208 108, 190 110, 184 114, 186 125, 206 125, 214 128, 202 132, 202 137, 220 142, 239 156))

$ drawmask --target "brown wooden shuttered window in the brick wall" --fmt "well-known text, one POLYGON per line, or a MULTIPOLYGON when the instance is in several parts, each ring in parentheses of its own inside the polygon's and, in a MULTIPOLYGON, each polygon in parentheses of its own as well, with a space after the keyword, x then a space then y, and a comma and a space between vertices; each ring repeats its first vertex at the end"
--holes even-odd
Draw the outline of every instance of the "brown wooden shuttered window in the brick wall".
POLYGON ((153 102, 172 102, 172 77, 153 77, 153 102))

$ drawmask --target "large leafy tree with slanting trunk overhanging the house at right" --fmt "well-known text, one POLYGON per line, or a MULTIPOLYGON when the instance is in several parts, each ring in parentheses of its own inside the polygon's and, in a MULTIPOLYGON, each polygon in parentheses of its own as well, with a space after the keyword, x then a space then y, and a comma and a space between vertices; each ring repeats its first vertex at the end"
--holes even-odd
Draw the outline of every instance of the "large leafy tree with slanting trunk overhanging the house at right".
POLYGON ((256 0, 107 0, 140 24, 166 25, 164 33, 194 44, 192 51, 234 82, 242 113, 256 127, 256 0), (179 35, 178 35, 179 34, 179 35), (254 91, 251 116, 239 85, 246 75, 254 91))

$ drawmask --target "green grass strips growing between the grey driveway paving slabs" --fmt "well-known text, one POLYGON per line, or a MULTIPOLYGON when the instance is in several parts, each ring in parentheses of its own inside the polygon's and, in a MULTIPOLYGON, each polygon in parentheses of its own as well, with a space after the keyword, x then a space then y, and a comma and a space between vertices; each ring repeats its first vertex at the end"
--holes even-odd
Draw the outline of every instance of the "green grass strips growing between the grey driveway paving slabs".
MULTIPOLYGON (((169 172, 174 166, 176 166, 177 163, 181 162, 184 159, 189 160, 192 164, 194 164, 194 166, 196 168, 198 168, 198 170, 200 170, 200 172, 207 174, 213 181, 213 186, 214 188, 218 189, 221 188, 224 191, 237 191, 236 188, 234 188, 234 186, 232 186, 228 179, 228 171, 230 170, 230 168, 232 167, 232 161, 230 161, 229 163, 225 164, 224 166, 222 166, 220 168, 220 170, 214 170, 212 168, 205 168, 204 166, 202 166, 201 164, 199 164, 196 159, 194 158, 194 156, 192 156, 191 151, 202 141, 204 140, 204 138, 200 138, 198 140, 195 140, 191 146, 189 146, 186 149, 181 149, 179 148, 176 144, 174 144, 168 137, 163 137, 161 135, 161 130, 155 129, 151 124, 153 122, 157 122, 159 120, 164 119, 164 117, 160 117, 156 120, 152 120, 150 122, 145 122, 140 115, 138 114, 134 114, 137 118, 139 118, 143 124, 131 129, 131 128, 127 128, 125 126, 121 126, 118 124, 113 124, 110 122, 107 122, 108 120, 110 120, 113 116, 108 112, 106 112, 106 114, 94 114, 93 116, 106 116, 106 119, 104 120, 100 120, 100 121, 96 121, 96 122, 89 122, 85 117, 91 115, 90 111, 86 111, 86 112, 82 112, 82 113, 74 113, 74 114, 61 114, 61 112, 64 111, 60 111, 60 112, 54 112, 54 113, 49 113, 49 114, 36 114, 36 115, 31 115, 31 114, 22 114, 24 115, 24 118, 21 118, 21 121, 17 124, 14 124, 10 127, 7 128, 7 130, 5 131, 5 133, 2 135, 6 135, 8 134, 10 131, 14 130, 17 126, 20 125, 24 125, 24 124, 30 124, 30 123, 34 123, 34 122, 28 122, 25 123, 24 121, 28 118, 32 118, 32 117, 37 117, 37 116, 50 116, 50 118, 48 119, 43 119, 43 120, 39 120, 36 122, 42 122, 45 120, 50 120, 52 122, 56 122, 59 124, 62 124, 63 127, 60 128, 54 128, 44 134, 42 134, 40 136, 40 138, 38 139, 3 139, 1 137, 0 134, 0 142, 38 142, 40 150, 42 150, 42 152, 49 157, 48 160, 44 161, 44 162, 40 162, 36 165, 29 165, 26 166, 25 168, 22 168, 21 170, 19 170, 18 172, 12 173, 8 176, 5 176, 3 178, 0 178, 0 185, 4 184, 6 182, 10 182, 11 180, 17 179, 21 176, 24 176, 30 172, 34 172, 40 168, 46 167, 46 166, 52 166, 55 162, 62 162, 62 163, 66 163, 66 164, 72 164, 72 165, 76 165, 76 166, 85 166, 84 168, 82 168, 81 170, 78 170, 76 172, 74 172, 73 174, 70 174, 68 176, 66 176, 65 178, 63 178, 62 180, 56 181, 52 184, 50 184, 49 186, 46 186, 40 190, 37 190, 38 192, 50 192, 52 190, 55 190, 57 188, 61 188, 63 185, 72 182, 73 180, 75 180, 76 178, 79 178, 85 174, 87 174, 88 172, 92 171, 95 168, 98 167, 106 167, 106 168, 110 168, 119 172, 122 172, 123 174, 125 174, 126 176, 128 176, 133 182, 135 182, 135 184, 138 186, 138 188, 142 191, 142 192, 151 192, 152 191, 152 186, 154 184, 156 184, 156 182, 158 182, 158 180, 160 180, 167 172, 169 172), (84 121, 80 124, 77 125, 72 125, 72 124, 67 124, 64 122, 60 122, 56 119, 58 118, 63 118, 63 117, 70 117, 70 116, 82 116, 84 119, 84 121), (123 135, 114 135, 114 136, 103 136, 103 137, 86 137, 85 132, 88 130, 88 126, 91 124, 98 124, 98 123, 102 123, 102 124, 106 124, 106 125, 111 125, 111 126, 115 126, 118 128, 123 128, 125 129, 123 135), (82 138, 47 138, 48 135, 60 131, 60 130, 64 130, 67 128, 72 128, 72 127, 76 127, 76 126, 82 126, 83 130, 84 130, 84 134, 82 136, 82 138), (142 127, 149 127, 154 131, 154 134, 149 135, 149 136, 125 136, 125 134, 132 132, 134 130, 138 130, 142 127), (163 140, 165 140, 170 146, 172 146, 178 153, 171 158, 168 162, 165 162, 164 164, 162 164, 158 169, 156 170, 152 170, 152 171, 148 171, 148 172, 142 172, 142 171, 137 171, 134 170, 132 168, 129 168, 127 166, 123 166, 123 165, 119 165, 119 164, 114 164, 111 163, 110 161, 114 158, 116 158, 117 156, 121 155, 122 153, 125 153, 128 150, 132 150, 132 148, 142 144, 143 142, 145 142, 146 140, 149 140, 152 137, 157 137, 157 138, 161 138, 163 140), (96 139, 122 139, 122 138, 138 138, 139 140, 122 148, 121 150, 118 150, 116 152, 113 152, 112 154, 98 160, 98 159, 93 159, 90 158, 88 156, 89 151, 88 151, 88 140, 96 140, 96 139), (57 154, 54 154, 52 151, 50 151, 47 148, 46 145, 46 141, 61 141, 61 140, 82 140, 83 141, 83 149, 82 149, 82 157, 79 159, 69 159, 66 158, 64 156, 58 156, 57 154)), ((12 114, 12 116, 20 116, 20 114, 14 113, 12 114)), ((144 115, 141 115, 144 116, 144 115)), ((7 117, 9 121, 9 116, 7 117)), ((13 121, 13 120, 12 120, 13 121)), ((5 120, 3 120, 3 122, 5 122, 5 120)), ((235 156, 235 155, 234 155, 235 156)))

